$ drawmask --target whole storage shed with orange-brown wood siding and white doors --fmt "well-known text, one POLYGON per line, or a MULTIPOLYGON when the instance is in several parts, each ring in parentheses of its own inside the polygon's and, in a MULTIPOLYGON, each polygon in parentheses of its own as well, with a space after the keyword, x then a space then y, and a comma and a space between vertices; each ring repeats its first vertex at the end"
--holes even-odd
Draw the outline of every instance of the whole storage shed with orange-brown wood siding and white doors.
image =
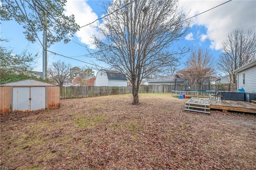
POLYGON ((0 113, 60 107, 60 86, 38 80, 0 84, 0 113))

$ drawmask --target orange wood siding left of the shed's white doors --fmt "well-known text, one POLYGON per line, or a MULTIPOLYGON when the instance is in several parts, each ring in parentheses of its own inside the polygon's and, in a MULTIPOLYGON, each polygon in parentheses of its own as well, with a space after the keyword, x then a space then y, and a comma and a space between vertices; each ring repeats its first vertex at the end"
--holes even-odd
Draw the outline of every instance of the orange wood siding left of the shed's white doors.
POLYGON ((0 86, 0 113, 10 111, 10 86, 0 86))

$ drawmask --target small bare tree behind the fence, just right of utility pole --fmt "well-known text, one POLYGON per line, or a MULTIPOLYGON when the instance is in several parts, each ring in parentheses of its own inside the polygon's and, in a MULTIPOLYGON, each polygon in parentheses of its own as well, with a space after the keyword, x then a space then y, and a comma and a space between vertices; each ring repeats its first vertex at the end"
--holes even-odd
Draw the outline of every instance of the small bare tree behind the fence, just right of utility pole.
POLYGON ((64 63, 64 61, 53 62, 48 68, 49 79, 56 81, 60 86, 63 86, 66 78, 68 78, 71 65, 64 63))

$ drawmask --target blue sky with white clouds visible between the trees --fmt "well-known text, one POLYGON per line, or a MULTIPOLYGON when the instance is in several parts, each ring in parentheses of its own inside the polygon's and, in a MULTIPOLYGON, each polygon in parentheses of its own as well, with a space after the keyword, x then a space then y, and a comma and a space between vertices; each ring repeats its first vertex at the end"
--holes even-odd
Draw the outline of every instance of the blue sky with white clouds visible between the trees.
MULTIPOLYGON (((190 18, 227 1, 228 0, 180 0, 180 4, 188 13, 187 18, 190 18)), ((67 0, 65 14, 74 14, 78 25, 83 26, 106 15, 104 9, 101 7, 104 2, 106 1, 67 0)), ((102 22, 102 20, 99 20, 99 22, 102 22)), ((94 24, 96 23, 97 22, 94 24)), ((60 60, 67 64, 70 63, 72 67, 93 68, 94 66, 91 65, 91 63, 95 63, 96 65, 107 68, 108 66, 106 64, 98 63, 90 58, 86 49, 86 47, 89 49, 94 48, 91 43, 91 37, 94 34, 98 34, 96 28, 91 27, 94 24, 82 27, 80 31, 74 35, 72 41, 67 44, 58 42, 51 45, 48 50, 60 55, 54 55, 48 52, 48 65, 60 60), (62 55, 72 59, 63 57, 62 55)), ((186 36, 184 36, 183 40, 179 43, 181 45, 189 45, 192 47, 192 50, 199 48, 203 50, 207 49, 216 63, 218 56, 222 52, 222 42, 227 38, 228 33, 236 28, 256 31, 256 0, 232 0, 208 12, 193 17, 192 24, 186 36)), ((35 71, 42 72, 42 46, 39 41, 35 43, 27 41, 23 34, 24 31, 22 25, 18 25, 15 21, 1 21, 0 36, 1 38, 9 39, 9 42, 2 43, 2 45, 12 49, 12 52, 16 54, 21 54, 25 50, 32 54, 38 53, 38 57, 34 60, 32 66, 34 66, 35 71)), ((38 33, 38 36, 42 37, 42 33, 38 33)), ((190 53, 182 58, 180 61, 180 69, 184 68, 184 62, 186 62, 186 58, 189 56, 190 53)), ((98 70, 94 70, 95 74, 97 71, 98 70)))

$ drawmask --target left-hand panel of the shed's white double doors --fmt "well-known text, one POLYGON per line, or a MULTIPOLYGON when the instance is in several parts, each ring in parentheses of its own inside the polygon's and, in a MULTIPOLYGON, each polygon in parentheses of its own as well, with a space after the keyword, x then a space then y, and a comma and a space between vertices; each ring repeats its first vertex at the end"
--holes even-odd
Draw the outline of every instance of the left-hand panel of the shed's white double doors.
POLYGON ((30 111, 29 87, 14 87, 12 98, 13 111, 30 111))

